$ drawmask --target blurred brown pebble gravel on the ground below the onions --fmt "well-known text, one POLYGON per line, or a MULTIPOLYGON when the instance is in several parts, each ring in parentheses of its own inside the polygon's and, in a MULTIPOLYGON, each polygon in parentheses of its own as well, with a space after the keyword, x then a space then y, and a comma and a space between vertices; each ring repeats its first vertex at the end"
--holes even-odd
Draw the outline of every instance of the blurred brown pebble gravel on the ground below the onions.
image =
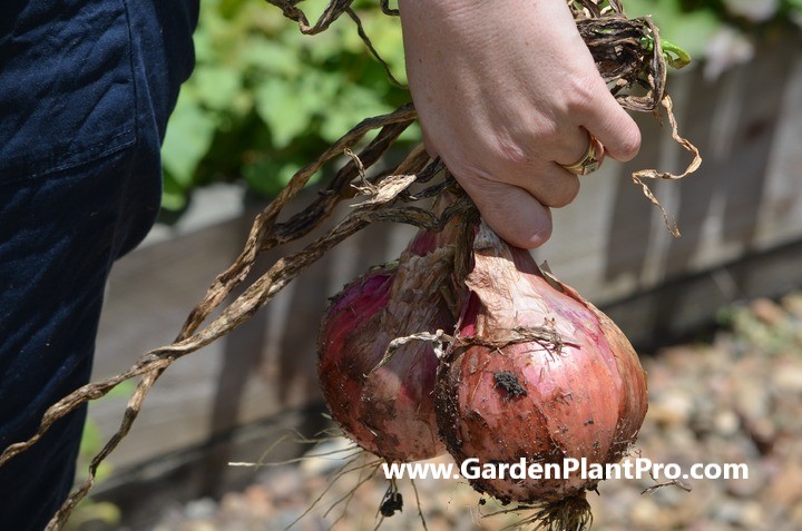
MULTIPOLYGON (((649 375, 649 412, 637 442, 653 462, 745 463, 749 478, 683 480, 655 486, 652 479, 608 480, 588 494, 599 531, 802 530, 802 293, 779 302, 753 301, 722 316, 727 324, 706 342, 665 348, 643 360, 649 375), (643 492, 647 490, 647 492, 643 492)), ((345 462, 342 440, 310 453, 300 465, 265 469, 258 481, 222 500, 196 500, 167 510, 155 531, 291 529, 373 530, 388 483, 360 472, 336 479, 345 462), (323 498, 304 514, 320 495, 323 498), (348 504, 335 503, 349 499, 348 504), (346 507, 348 505, 348 507, 346 507), (329 512, 326 510, 330 509, 329 512)), ((366 469, 363 469, 366 470, 366 469)), ((526 512, 498 510, 463 482, 399 482, 404 509, 383 530, 518 529, 526 512)), ((525 528, 522 528, 525 529, 525 528)))

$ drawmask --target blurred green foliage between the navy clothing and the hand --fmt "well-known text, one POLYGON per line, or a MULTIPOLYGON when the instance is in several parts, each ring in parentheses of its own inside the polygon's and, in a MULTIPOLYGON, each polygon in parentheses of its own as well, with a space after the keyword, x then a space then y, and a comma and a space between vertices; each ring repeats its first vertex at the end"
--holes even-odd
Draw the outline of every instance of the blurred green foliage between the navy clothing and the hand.
MULTIPOLYGON (((325 3, 307 0, 303 9, 312 19, 325 3)), ((382 14, 379 2, 358 1, 354 8, 403 82, 399 20, 382 14)), ((262 1, 204 0, 200 11, 196 69, 163 148, 167 209, 183 208, 193 187, 221 179, 242 179, 253 193, 272 196, 360 120, 410 100, 348 17, 304 36, 262 1)))

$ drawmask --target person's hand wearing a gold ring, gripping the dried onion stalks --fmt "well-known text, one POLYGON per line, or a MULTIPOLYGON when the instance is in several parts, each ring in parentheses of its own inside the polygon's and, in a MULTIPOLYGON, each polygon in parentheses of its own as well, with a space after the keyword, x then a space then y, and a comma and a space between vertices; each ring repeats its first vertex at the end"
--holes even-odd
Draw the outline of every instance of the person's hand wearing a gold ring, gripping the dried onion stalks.
POLYGON ((629 160, 635 121, 609 94, 565 0, 400 0, 407 71, 429 153, 507 242, 535 248, 568 205, 588 131, 629 160))

